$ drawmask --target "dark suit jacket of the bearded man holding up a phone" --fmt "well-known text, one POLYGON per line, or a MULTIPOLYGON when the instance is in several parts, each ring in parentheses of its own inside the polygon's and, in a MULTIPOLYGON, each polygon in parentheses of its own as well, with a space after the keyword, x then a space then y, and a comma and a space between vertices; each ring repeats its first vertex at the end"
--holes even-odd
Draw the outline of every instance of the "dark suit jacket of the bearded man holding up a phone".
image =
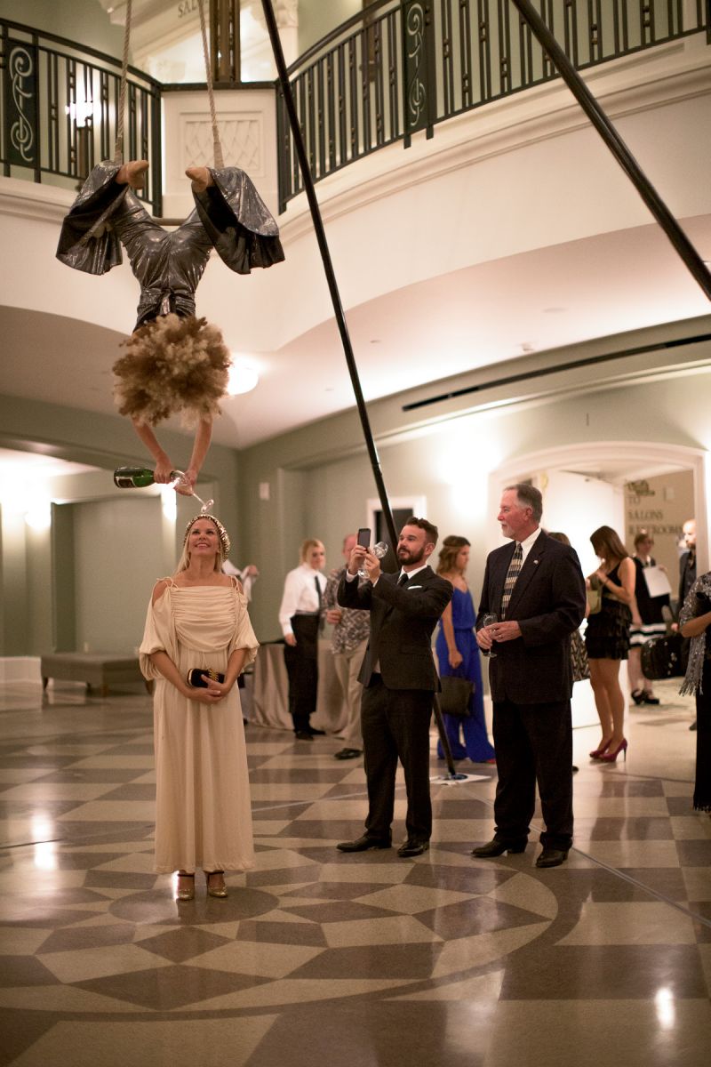
POLYGON ((432 655, 432 633, 452 599, 452 586, 431 567, 419 571, 404 587, 398 574, 381 574, 370 582, 346 582, 338 587, 338 603, 370 611, 370 640, 359 681, 369 685, 375 664, 388 689, 439 689, 432 655))

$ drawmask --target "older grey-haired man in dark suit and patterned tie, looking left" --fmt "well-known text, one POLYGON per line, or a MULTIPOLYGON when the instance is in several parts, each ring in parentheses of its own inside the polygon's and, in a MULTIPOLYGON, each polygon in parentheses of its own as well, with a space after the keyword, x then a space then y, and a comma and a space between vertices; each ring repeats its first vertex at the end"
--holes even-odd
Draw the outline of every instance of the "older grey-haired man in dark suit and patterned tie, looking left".
POLYGON ((573 548, 539 528, 533 485, 504 490, 498 521, 514 544, 489 554, 476 641, 489 655, 497 785, 492 841, 476 857, 522 853, 538 794, 546 829, 536 866, 559 866, 572 843, 570 635, 585 615, 585 579, 573 548), (498 621, 484 626, 487 614, 498 621))

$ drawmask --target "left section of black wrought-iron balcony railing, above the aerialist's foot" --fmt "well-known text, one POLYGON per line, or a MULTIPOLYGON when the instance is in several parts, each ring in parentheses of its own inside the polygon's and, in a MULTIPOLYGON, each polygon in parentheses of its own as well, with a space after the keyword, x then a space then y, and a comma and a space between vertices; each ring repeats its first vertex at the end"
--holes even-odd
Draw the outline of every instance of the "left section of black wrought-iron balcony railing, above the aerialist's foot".
MULTIPOLYGON (((120 62, 83 45, 0 19, 0 165, 76 189, 94 164, 112 159, 120 62)), ((147 159, 141 194, 161 213, 160 83, 130 68, 124 155, 147 159)))

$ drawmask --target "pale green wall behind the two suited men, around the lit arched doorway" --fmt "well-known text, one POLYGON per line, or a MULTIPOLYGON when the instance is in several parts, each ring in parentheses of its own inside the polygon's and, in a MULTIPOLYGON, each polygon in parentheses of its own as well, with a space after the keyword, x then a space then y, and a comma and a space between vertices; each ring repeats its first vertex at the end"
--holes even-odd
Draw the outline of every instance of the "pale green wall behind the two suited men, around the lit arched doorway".
MULTIPOLYGON (((711 320, 695 320, 688 328, 698 336, 705 324, 711 325, 711 320)), ((641 334, 637 340, 649 341, 655 335, 668 336, 668 328, 641 334)), ((632 339, 631 335, 620 338, 619 347, 629 347, 632 339)), ((605 344, 610 347, 609 339, 605 344)), ((576 351, 548 353, 547 359, 564 360, 592 350, 579 346, 576 351)), ((605 442, 619 443, 612 448, 615 461, 625 456, 626 448, 632 455, 634 445, 634 460, 630 459, 630 463, 634 462, 636 468, 640 455, 646 450, 651 453, 658 444, 679 449, 675 458, 680 466, 689 464, 691 469, 699 463, 699 452, 711 448, 706 365, 711 357, 711 343, 699 344, 694 356, 698 360, 694 370, 690 370, 689 363, 682 366, 676 355, 665 353, 665 370, 660 362, 658 373, 651 372, 656 369, 655 356, 645 354, 639 364, 636 357, 630 357, 609 370, 595 365, 586 371, 586 378, 580 371, 553 376, 548 381, 549 387, 555 386, 552 395, 515 404, 506 403, 505 391, 501 400, 494 391, 487 402, 501 402, 501 407, 488 410, 467 411, 465 403, 472 401, 466 398, 447 401, 435 407, 436 412, 445 409, 441 420, 429 425, 421 421, 421 412, 403 412, 413 393, 377 401, 370 405, 370 417, 388 493, 391 497, 424 496, 427 517, 439 526, 441 536, 456 532, 471 541, 470 582, 478 595, 486 555, 500 543, 496 524, 501 488, 498 471, 517 469, 517 464, 521 474, 565 471, 573 450, 576 458, 567 469, 576 471, 581 455, 589 449, 593 457, 598 445, 605 442), (628 380, 626 371, 632 380, 628 380), (566 382, 568 391, 564 388, 566 382), (545 465, 537 460, 527 462, 527 457, 537 456, 543 449, 553 450, 545 465)), ((535 361, 531 366, 540 366, 544 357, 536 356, 535 361)), ((519 369, 526 365, 517 361, 519 369)), ((519 396, 539 387, 539 382, 522 385, 519 396)), ((433 383, 413 392, 434 395, 441 389, 433 383)), ((478 398, 478 402, 482 401, 478 398)), ((437 418, 432 414, 429 417, 437 418)), ((343 535, 366 523, 367 500, 376 492, 361 441, 359 421, 351 411, 241 453, 239 555, 257 563, 262 573, 252 607, 260 637, 278 636, 276 616, 284 576, 295 566, 301 540, 321 538, 327 566, 336 566, 343 535), (260 483, 269 485, 268 500, 260 498, 260 483)), ((697 469, 701 477, 699 489, 705 494, 701 475, 697 469)), ((584 508, 584 503, 576 498, 571 507, 584 508)), ((578 510, 576 515, 580 520, 578 510)), ((600 525, 594 506, 589 516, 583 515, 582 525, 585 522, 591 532, 600 525)), ((707 566, 706 527, 699 539, 699 557, 701 566, 707 566)))

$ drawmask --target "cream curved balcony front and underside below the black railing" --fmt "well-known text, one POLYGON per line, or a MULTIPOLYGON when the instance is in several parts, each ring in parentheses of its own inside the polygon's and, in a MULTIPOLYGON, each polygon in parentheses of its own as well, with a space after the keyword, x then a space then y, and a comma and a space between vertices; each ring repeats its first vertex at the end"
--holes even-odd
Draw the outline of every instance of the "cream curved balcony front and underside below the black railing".
MULTIPOLYGON (((438 16, 448 4, 437 4, 438 16)), ((572 6, 580 12, 588 5, 566 5, 572 6)), ((612 2, 598 6, 602 14, 623 11, 612 2)), ((641 11, 635 0, 624 6, 628 13, 641 11)), ((652 14, 672 11, 677 21, 649 34, 653 47, 628 36, 631 54, 600 62, 586 80, 691 240, 706 252, 711 248, 711 141, 704 133, 711 98, 709 49, 706 35, 698 29, 692 34, 690 27, 704 26, 708 9, 695 0, 647 6, 652 14), (682 14, 689 20, 683 25, 682 14)), ((394 6, 383 4, 376 14, 388 11, 394 6)), ((462 0, 457 12, 464 11, 473 11, 471 2, 462 0)), ((353 26, 343 32, 351 31, 353 26)), ((3 48, 12 37, 2 38, 3 48)), ((320 47, 327 51, 325 44, 320 47)), ((69 61, 77 69, 76 57, 69 61)), ((316 69, 318 61, 311 54, 302 62, 305 69, 316 69)), ((298 74, 292 76, 295 81, 298 74)), ((161 172, 163 213, 182 218, 192 207, 184 168, 197 161, 193 154, 209 153, 211 144, 206 94, 193 86, 150 87, 158 94, 163 126, 161 166, 153 165, 152 175, 161 172)), ((221 92, 216 103, 226 158, 253 175, 276 211, 274 87, 221 92)), ((49 110, 47 115, 49 121, 49 110)), ((67 159, 70 120, 65 115, 51 127, 55 139, 68 127, 67 159)), ((6 130, 5 117, 0 126, 6 130)), ((426 128, 411 133, 407 152, 390 141, 354 157, 358 165, 337 160, 333 172, 317 168, 319 201, 369 400, 397 393, 405 383, 416 387, 522 353, 708 312, 700 290, 560 79, 500 95, 486 108, 460 109, 435 127, 434 137, 426 128)), ((93 127, 97 155, 104 154, 103 145, 112 154, 112 134, 109 127, 104 141, 96 141, 100 132, 93 127)), ((42 124, 39 136, 45 136, 42 124)), ((144 154, 139 132, 135 137, 135 154, 144 154)), ((9 164, 5 155, 2 161, 12 178, 35 176, 33 168, 9 164)), ((3 244, 21 250, 3 280, 0 325, 6 363, 13 366, 5 391, 108 413, 106 368, 134 319, 135 282, 127 265, 97 280, 54 260, 58 225, 80 175, 75 163, 63 164, 56 176, 48 166, 43 162, 41 186, 1 184, 3 244), (49 189, 50 180, 62 188, 49 189), (37 264, 43 265, 42 285, 37 264), (30 322, 37 328, 31 363, 22 357, 30 322), (15 338, 12 345, 10 338, 15 338), (72 351, 71 378, 59 386, 51 373, 58 346, 72 351)), ((279 219, 287 260, 278 270, 236 284, 215 264, 200 284, 200 314, 220 322, 233 351, 257 357, 263 387, 271 388, 263 407, 230 401, 216 430, 224 444, 244 447, 352 404, 305 201, 289 197, 279 219), (306 360, 310 376, 302 370, 306 360)))

